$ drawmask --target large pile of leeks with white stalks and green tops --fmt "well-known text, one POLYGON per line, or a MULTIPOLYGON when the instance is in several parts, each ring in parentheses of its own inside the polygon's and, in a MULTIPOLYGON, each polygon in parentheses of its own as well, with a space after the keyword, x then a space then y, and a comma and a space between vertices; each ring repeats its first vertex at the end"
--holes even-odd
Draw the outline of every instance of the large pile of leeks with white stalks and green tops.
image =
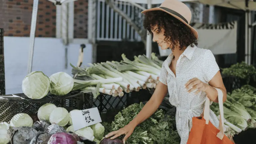
POLYGON ((154 53, 151 56, 151 59, 145 55, 134 56, 134 61, 131 61, 122 54, 121 62, 106 61, 89 64, 85 68, 71 64, 72 74, 75 76, 73 90, 91 93, 92 90, 97 89, 96 84, 100 83, 98 89, 100 93, 121 97, 124 92, 155 88, 163 61, 160 61, 154 53))

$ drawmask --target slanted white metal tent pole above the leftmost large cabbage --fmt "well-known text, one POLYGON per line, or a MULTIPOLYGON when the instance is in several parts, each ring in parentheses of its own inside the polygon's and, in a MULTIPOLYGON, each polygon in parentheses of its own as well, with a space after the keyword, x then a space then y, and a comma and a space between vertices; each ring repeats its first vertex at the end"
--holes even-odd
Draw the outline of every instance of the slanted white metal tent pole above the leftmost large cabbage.
POLYGON ((33 64, 33 54, 34 54, 34 44, 35 44, 35 30, 36 30, 36 19, 37 19, 38 1, 39 0, 34 0, 34 2, 33 2, 31 27, 30 27, 28 73, 31 73, 31 71, 32 71, 32 64, 33 64))

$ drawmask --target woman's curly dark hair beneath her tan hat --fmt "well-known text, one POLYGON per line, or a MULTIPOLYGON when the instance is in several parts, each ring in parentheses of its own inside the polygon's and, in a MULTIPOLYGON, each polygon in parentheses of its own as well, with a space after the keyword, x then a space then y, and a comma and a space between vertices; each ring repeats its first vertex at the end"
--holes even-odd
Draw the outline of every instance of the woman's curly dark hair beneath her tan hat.
POLYGON ((149 11, 145 13, 145 19, 143 26, 151 32, 153 26, 158 26, 158 31, 163 28, 165 30, 165 42, 170 42, 172 45, 172 51, 174 51, 177 42, 180 44, 180 50, 187 48, 189 45, 193 47, 193 44, 197 45, 197 38, 194 36, 188 26, 176 19, 172 15, 164 11, 149 11))

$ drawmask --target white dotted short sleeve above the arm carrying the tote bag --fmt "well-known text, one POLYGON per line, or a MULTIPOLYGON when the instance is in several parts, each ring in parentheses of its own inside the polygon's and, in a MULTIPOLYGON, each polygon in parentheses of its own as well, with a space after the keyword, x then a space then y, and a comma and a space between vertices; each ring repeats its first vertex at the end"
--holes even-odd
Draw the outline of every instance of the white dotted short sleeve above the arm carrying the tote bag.
POLYGON ((209 82, 219 71, 219 66, 214 55, 210 50, 206 50, 203 62, 203 77, 206 82, 209 82))

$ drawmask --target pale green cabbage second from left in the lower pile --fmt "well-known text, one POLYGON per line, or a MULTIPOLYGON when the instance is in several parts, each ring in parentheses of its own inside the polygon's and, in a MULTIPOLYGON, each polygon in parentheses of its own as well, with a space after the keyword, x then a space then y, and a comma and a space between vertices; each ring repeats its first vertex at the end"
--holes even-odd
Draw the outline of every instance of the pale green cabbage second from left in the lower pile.
POLYGON ((22 127, 22 126, 32 127, 33 120, 28 114, 18 113, 12 117, 10 124, 12 127, 22 127))

